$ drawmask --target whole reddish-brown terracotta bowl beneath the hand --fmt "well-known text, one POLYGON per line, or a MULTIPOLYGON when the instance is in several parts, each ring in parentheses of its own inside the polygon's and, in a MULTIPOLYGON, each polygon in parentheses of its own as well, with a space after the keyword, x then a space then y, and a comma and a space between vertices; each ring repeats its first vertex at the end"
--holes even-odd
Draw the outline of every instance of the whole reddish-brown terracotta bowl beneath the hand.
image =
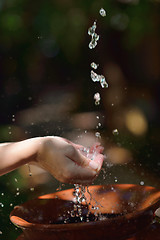
POLYGON ((11 221, 23 230, 26 240, 123 239, 149 226, 160 206, 160 191, 132 184, 90 186, 81 206, 85 222, 71 217, 73 189, 40 196, 16 206, 11 221), (92 197, 91 197, 92 196, 92 197), (98 205, 97 205, 98 203, 98 205), (95 210, 103 219, 95 219, 95 210), (90 210, 87 222, 86 214, 90 210), (64 221, 67 220, 67 223, 64 221))

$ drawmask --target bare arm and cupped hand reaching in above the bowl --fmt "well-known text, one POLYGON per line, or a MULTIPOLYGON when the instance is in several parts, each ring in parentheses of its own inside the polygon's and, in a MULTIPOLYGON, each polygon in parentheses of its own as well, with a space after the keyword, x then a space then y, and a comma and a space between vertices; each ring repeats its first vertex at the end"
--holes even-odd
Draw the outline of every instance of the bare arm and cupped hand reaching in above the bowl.
POLYGON ((63 183, 91 183, 101 170, 103 147, 95 144, 88 157, 83 148, 61 137, 37 137, 0 144, 0 175, 31 163, 63 183))

